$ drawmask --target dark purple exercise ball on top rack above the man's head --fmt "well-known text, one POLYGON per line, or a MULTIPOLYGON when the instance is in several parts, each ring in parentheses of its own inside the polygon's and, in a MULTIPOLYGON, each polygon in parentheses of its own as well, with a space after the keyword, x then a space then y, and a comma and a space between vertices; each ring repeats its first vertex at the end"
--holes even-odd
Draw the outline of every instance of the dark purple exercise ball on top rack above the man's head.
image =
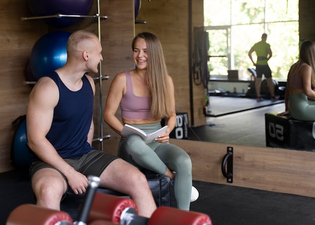
MULTIPOLYGON (((51 16, 56 14, 86 16, 91 11, 93 0, 28 0, 31 13, 35 17, 51 16)), ((68 27, 80 22, 83 18, 54 17, 42 19, 52 27, 68 27)))

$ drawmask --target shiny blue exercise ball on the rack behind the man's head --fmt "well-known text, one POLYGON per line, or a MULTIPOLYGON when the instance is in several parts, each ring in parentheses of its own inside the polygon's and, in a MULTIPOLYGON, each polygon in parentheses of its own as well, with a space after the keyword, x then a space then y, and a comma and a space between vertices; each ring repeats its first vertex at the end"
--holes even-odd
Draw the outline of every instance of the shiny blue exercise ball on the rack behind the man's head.
POLYGON ((36 41, 30 57, 30 66, 36 81, 66 63, 66 46, 70 35, 66 31, 54 31, 36 41))

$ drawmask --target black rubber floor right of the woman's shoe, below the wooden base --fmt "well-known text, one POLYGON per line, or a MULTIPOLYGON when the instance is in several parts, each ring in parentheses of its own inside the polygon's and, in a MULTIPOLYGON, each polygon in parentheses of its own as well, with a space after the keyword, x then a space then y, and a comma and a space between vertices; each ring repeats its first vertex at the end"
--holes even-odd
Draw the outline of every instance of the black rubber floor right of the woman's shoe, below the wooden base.
POLYGON ((206 213, 213 225, 313 225, 315 199, 194 181, 199 199, 191 210, 206 213))

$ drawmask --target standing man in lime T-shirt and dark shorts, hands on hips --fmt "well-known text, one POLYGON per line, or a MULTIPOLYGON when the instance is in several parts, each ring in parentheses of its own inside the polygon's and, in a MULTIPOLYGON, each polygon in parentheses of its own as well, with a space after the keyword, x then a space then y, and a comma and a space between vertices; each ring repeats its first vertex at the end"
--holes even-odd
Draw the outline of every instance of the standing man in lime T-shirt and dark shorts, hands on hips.
POLYGON ((264 99, 260 96, 260 87, 262 83, 263 74, 267 79, 268 89, 271 96, 271 101, 275 101, 275 87, 272 82, 271 77, 271 69, 268 65, 268 60, 272 56, 272 51, 270 48, 270 44, 267 43, 267 34, 262 34, 261 41, 254 44, 254 46, 250 49, 248 56, 250 57, 253 64, 256 66, 257 78, 255 79, 255 90, 256 90, 256 100, 257 102, 264 101, 264 99), (252 53, 256 52, 257 54, 257 62, 255 63, 252 57, 252 53))

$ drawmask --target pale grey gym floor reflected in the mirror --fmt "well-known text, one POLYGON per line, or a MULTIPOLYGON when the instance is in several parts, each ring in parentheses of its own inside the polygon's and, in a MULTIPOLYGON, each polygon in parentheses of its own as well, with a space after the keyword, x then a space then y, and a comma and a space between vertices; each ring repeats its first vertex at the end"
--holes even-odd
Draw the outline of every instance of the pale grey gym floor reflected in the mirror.
MULTIPOLYGON (((257 107, 256 99, 210 97, 210 102, 212 98, 215 101, 211 104, 211 108, 212 111, 215 110, 217 113, 219 111, 228 112, 229 105, 238 105, 239 110, 243 110, 252 103, 252 109, 226 113, 217 117, 208 116, 206 117, 206 125, 189 129, 189 139, 265 147, 265 113, 283 112, 285 110, 284 103, 271 104, 270 100, 265 102, 269 102, 271 105, 257 107), (218 99, 220 101, 217 101, 218 99), (221 110, 218 108, 221 108, 221 110)), ((237 111, 234 106, 230 108, 237 111)))

